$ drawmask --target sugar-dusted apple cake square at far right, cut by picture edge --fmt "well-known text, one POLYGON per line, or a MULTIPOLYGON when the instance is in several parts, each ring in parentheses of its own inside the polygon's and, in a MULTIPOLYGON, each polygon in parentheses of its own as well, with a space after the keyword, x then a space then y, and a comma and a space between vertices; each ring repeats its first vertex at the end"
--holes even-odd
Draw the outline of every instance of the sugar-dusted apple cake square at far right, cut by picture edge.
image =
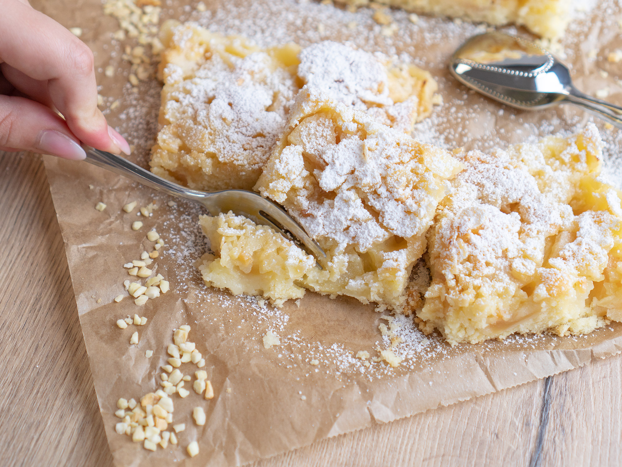
POLYGON ((622 320, 622 209, 597 178, 602 147, 590 124, 569 138, 457 154, 466 169, 429 233, 425 332, 476 343, 622 320))

